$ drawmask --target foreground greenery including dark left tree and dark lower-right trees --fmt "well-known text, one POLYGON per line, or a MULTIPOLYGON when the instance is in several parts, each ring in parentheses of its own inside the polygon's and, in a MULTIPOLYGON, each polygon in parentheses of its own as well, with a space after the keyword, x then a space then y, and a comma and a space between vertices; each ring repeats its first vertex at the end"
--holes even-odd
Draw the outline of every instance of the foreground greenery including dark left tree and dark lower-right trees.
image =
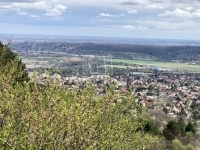
POLYGON ((160 131, 127 93, 30 81, 9 45, 0 44, 0 149, 195 149, 193 123, 171 120, 160 131))

